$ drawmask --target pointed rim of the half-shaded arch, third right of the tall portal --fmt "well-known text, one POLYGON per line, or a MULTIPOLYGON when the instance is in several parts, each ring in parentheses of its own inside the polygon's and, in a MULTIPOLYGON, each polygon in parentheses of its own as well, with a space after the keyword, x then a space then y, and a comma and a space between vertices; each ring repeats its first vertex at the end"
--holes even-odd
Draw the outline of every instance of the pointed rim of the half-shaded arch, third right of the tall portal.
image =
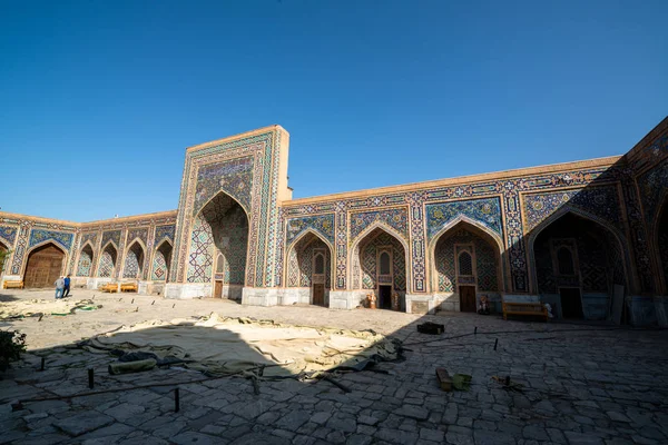
MULTIPOLYGON (((505 251, 503 246, 503 239, 499 234, 492 230, 489 226, 470 218, 465 215, 458 215, 452 220, 448 221, 448 224, 443 225, 441 229, 432 237, 428 245, 428 264, 426 268, 428 273, 428 283, 431 286, 431 291, 438 293, 440 291, 439 286, 439 263, 436 258, 436 248, 439 243, 442 239, 445 239, 450 234, 454 233, 458 227, 468 229, 471 234, 478 236, 482 240, 487 241, 494 250, 494 256, 497 260, 497 286, 499 293, 505 290, 508 276, 510 274, 509 265, 503 260, 503 254, 505 251)), ((459 255, 453 260, 459 261, 459 255)), ((454 265, 454 263, 453 263, 454 265)), ((484 270, 478 270, 479 273, 483 273, 484 270)), ((485 290, 487 291, 487 290, 485 290)))

